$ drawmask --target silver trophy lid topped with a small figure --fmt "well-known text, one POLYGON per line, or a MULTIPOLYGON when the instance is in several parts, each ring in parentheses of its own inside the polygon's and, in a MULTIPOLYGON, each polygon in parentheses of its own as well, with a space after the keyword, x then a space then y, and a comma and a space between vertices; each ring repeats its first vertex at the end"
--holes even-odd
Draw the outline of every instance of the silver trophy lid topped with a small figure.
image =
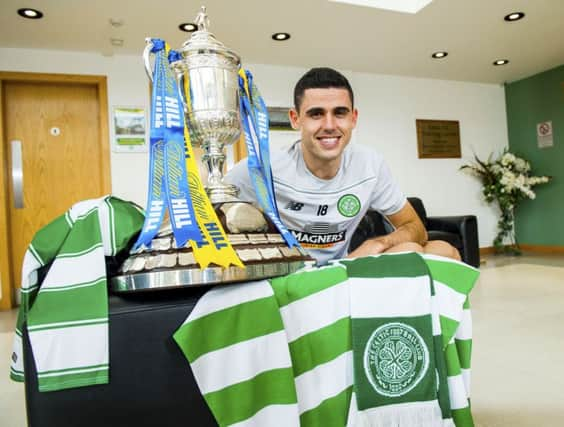
POLYGON ((180 53, 182 53, 184 58, 201 53, 217 53, 229 57, 237 65, 241 63, 239 55, 228 49, 209 32, 210 20, 205 6, 201 7, 194 23, 198 26, 198 30, 192 33, 191 37, 182 44, 180 49, 180 53))

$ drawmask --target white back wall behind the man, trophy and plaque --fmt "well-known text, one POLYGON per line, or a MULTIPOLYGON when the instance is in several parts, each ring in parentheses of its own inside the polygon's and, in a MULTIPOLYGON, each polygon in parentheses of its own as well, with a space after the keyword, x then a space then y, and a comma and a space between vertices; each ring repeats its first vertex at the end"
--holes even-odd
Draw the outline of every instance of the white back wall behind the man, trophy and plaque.
MULTIPOLYGON (((305 68, 246 64, 268 105, 292 105, 295 82, 305 68)), ((139 56, 0 49, 0 70, 98 74, 108 77, 108 105, 148 108, 148 81, 139 56)), ((496 212, 481 200, 476 179, 458 168, 475 152, 487 157, 507 146, 504 89, 498 85, 354 73, 344 70, 355 90, 359 123, 353 143, 373 146, 388 163, 407 195, 421 197, 429 215, 478 216, 480 246, 491 246, 496 212), (417 158, 415 119, 458 120, 462 159, 417 158)), ((298 138, 274 132, 274 145, 298 138)), ((146 153, 111 153, 112 191, 144 204, 146 153)))

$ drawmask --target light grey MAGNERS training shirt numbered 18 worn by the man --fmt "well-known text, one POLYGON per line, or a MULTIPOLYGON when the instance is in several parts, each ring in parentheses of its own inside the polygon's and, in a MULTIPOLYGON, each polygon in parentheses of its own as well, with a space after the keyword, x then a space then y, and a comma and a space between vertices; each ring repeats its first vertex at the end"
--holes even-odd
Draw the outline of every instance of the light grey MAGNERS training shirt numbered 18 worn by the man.
MULTIPOLYGON (((391 215, 406 202, 382 156, 367 147, 349 145, 337 175, 329 180, 307 169, 299 141, 273 151, 271 163, 280 217, 321 264, 346 256, 368 209, 391 215)), ((240 188, 242 200, 256 201, 246 161, 235 165, 226 181, 240 188)))

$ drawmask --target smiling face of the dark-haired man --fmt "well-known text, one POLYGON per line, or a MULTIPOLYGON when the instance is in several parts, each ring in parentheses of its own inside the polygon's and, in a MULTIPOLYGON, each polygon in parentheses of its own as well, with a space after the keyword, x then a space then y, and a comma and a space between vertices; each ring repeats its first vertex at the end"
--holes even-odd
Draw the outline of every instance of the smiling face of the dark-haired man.
POLYGON ((290 110, 290 121, 301 131, 304 159, 310 169, 324 163, 339 166, 357 117, 346 89, 305 90, 299 111, 290 110))

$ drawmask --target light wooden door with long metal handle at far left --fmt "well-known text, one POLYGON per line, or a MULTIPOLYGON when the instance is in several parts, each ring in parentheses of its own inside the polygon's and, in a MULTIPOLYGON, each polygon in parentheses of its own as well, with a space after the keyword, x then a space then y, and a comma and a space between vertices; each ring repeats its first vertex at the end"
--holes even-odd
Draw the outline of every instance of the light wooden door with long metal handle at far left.
POLYGON ((11 287, 18 288, 35 232, 74 203, 107 192, 107 148, 96 84, 5 81, 2 110, 11 287), (21 157, 22 207, 14 192, 14 156, 21 157))

